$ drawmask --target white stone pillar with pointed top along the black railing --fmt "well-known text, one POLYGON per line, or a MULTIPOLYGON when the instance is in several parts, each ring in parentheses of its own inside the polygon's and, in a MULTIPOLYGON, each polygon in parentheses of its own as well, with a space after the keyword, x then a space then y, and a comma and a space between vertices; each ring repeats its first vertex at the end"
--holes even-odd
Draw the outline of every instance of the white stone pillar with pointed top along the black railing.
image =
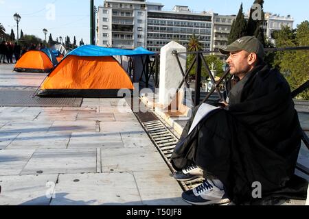
MULTIPOLYGON (((172 54, 173 51, 180 53, 186 52, 187 49, 174 41, 161 48, 159 103, 165 106, 170 104, 176 94, 176 89, 183 79, 176 57, 172 54)), ((179 54, 179 60, 181 62, 181 67, 185 71, 187 54, 179 54)))

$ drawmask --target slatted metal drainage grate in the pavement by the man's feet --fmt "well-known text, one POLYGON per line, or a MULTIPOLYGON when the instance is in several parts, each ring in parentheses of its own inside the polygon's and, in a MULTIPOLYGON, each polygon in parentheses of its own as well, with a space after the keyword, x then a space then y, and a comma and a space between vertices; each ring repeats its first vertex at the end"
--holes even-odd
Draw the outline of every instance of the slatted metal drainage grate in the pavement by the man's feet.
MULTIPOLYGON (((170 157, 174 151, 179 138, 168 129, 160 120, 154 120, 146 123, 141 123, 144 129, 146 129, 148 135, 152 142, 155 143, 155 146, 165 159, 165 162, 168 164, 172 172, 175 172, 172 164, 170 163, 170 157)), ((183 181, 181 183, 185 191, 195 188, 197 185, 200 185, 203 182, 203 178, 194 179, 192 181, 183 181)))

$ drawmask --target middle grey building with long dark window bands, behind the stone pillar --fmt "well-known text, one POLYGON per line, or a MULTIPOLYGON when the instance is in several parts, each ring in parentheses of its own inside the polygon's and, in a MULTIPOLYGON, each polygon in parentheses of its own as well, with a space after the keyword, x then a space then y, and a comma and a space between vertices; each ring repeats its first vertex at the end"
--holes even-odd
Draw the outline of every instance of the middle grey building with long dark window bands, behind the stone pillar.
POLYGON ((172 11, 167 12, 161 10, 162 7, 163 5, 155 3, 152 3, 151 8, 148 7, 146 44, 148 50, 159 51, 172 40, 187 47, 192 34, 198 36, 203 49, 211 50, 214 16, 212 13, 194 13, 187 6, 181 5, 176 5, 172 11))

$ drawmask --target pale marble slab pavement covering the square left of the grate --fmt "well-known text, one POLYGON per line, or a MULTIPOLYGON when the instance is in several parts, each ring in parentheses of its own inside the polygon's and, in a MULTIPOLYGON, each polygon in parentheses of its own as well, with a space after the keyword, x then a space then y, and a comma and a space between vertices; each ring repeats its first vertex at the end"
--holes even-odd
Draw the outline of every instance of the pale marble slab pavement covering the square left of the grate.
MULTIPOLYGON (((0 65, 0 90, 46 74, 0 65)), ((0 205, 186 205, 181 187, 128 105, 0 107, 0 205)))

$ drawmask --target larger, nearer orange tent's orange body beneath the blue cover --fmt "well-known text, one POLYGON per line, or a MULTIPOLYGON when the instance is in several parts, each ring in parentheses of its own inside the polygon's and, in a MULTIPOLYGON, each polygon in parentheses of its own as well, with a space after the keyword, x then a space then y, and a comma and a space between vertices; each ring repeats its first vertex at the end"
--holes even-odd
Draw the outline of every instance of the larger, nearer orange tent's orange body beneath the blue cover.
POLYGON ((126 71, 112 56, 67 55, 43 82, 38 96, 117 97, 133 90, 126 71))

